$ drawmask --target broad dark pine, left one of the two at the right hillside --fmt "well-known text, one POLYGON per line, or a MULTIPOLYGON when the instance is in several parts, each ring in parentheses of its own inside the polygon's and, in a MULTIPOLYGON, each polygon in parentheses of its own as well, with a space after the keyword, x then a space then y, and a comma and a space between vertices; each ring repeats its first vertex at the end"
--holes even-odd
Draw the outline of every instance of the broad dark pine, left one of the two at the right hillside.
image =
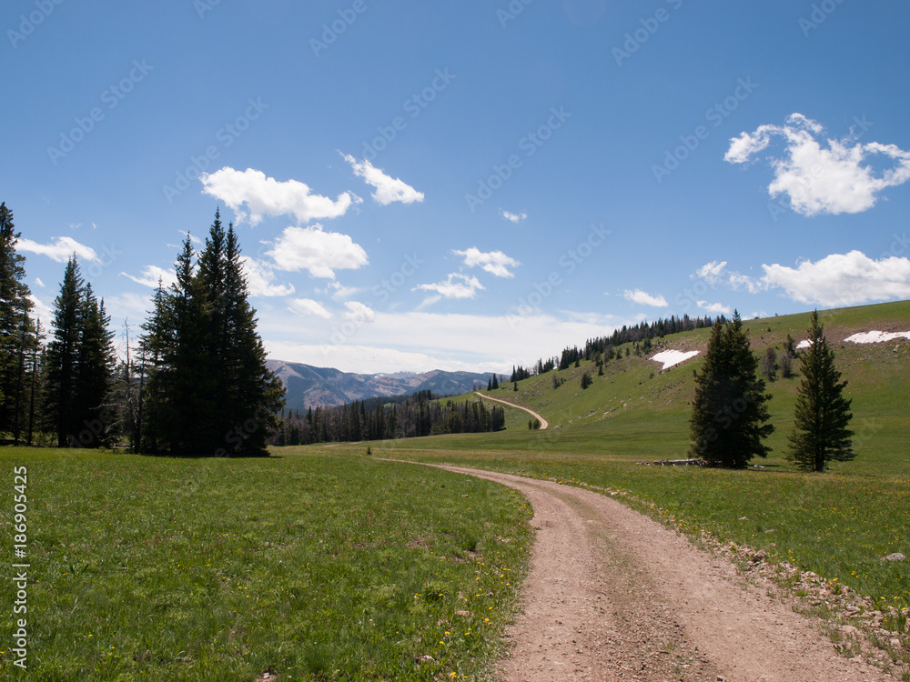
POLYGON ((765 406, 771 396, 764 393, 757 368, 739 313, 725 329, 716 320, 695 378, 690 456, 728 468, 743 468, 753 456, 767 456, 770 448, 762 441, 773 432, 765 406))

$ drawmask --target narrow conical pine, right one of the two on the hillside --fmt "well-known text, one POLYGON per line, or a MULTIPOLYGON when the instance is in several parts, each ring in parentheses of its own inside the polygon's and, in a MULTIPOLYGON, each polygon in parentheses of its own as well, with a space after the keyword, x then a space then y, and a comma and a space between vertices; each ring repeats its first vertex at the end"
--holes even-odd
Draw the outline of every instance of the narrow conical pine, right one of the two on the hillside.
POLYGON ((788 437, 787 458, 804 471, 824 471, 828 462, 853 459, 852 400, 843 396, 847 382, 834 367, 834 351, 818 323, 818 311, 809 318, 810 346, 799 356, 803 379, 796 394, 794 431, 788 437))

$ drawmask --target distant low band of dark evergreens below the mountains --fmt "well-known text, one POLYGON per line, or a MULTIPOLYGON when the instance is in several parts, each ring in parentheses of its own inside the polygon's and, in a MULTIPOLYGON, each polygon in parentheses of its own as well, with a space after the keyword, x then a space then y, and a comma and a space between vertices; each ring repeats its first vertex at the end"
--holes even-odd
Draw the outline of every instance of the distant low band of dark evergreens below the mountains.
POLYGON ((343 406, 310 407, 282 415, 270 443, 276 446, 357 442, 440 434, 480 433, 505 428, 505 410, 476 401, 441 402, 430 391, 397 398, 372 398, 343 406))

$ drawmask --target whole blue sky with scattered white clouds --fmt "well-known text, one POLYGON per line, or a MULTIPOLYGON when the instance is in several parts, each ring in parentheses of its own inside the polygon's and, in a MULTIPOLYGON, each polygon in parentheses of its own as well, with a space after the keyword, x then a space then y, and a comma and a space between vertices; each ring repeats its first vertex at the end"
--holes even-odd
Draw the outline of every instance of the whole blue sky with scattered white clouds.
POLYGON ((0 199, 118 330, 215 210, 270 356, 507 371, 910 297, 910 5, 11 0, 0 199))

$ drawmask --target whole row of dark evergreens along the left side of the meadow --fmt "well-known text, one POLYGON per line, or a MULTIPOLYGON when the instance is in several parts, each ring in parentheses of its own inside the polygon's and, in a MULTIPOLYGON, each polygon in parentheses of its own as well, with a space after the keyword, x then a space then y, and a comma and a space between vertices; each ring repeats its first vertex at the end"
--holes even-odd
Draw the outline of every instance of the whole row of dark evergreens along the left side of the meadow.
POLYGON ((127 330, 120 362, 104 300, 76 256, 42 346, 19 236, 0 205, 0 433, 31 444, 40 431, 62 447, 126 442, 150 454, 266 454, 284 387, 265 366, 233 226, 216 213, 199 254, 187 236, 177 283, 159 283, 138 356, 127 330))

